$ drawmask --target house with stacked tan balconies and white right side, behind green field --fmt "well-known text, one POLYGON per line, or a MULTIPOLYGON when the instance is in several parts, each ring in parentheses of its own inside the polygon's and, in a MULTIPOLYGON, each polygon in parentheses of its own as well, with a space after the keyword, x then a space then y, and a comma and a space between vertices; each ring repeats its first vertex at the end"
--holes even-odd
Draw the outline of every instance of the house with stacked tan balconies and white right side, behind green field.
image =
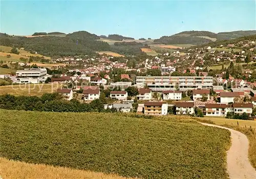
POLYGON ((147 115, 167 115, 168 105, 162 102, 145 102, 144 114, 147 115))

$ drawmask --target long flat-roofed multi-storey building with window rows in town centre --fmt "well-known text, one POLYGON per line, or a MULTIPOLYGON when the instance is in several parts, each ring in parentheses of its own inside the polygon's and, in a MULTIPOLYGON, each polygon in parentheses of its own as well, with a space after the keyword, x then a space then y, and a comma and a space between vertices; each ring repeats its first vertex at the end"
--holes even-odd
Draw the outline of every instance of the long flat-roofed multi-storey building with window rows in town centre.
POLYGON ((207 89, 213 87, 212 76, 137 76, 136 84, 147 86, 152 91, 207 89))

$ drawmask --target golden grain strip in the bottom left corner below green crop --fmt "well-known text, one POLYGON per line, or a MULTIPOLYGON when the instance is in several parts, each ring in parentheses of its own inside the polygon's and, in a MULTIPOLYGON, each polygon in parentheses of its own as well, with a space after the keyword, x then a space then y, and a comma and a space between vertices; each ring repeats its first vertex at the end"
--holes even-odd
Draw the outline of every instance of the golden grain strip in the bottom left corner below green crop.
POLYGON ((104 174, 86 170, 76 170, 67 167, 53 167, 41 164, 29 164, 25 162, 7 160, 0 158, 0 176, 3 178, 105 178, 105 179, 125 179, 115 174, 104 174))

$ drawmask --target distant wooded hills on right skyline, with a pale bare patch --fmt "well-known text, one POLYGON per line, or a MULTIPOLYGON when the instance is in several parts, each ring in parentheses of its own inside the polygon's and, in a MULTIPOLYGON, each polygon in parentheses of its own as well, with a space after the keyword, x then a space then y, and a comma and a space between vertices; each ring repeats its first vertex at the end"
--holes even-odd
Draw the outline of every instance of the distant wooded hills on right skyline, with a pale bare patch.
POLYGON ((256 31, 233 31, 233 32, 221 32, 212 33, 208 31, 184 31, 172 36, 163 36, 154 40, 158 44, 194 44, 201 45, 216 40, 231 40, 243 36, 249 36, 256 34, 256 31))

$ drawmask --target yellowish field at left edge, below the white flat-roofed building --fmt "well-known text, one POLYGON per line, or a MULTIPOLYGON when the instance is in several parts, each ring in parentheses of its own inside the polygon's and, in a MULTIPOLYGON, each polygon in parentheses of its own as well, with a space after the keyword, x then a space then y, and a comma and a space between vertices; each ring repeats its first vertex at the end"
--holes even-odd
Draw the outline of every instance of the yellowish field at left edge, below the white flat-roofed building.
POLYGON ((12 94, 12 95, 25 95, 25 96, 41 96, 44 93, 53 93, 60 88, 60 84, 19 84, 0 86, 0 95, 12 94))

